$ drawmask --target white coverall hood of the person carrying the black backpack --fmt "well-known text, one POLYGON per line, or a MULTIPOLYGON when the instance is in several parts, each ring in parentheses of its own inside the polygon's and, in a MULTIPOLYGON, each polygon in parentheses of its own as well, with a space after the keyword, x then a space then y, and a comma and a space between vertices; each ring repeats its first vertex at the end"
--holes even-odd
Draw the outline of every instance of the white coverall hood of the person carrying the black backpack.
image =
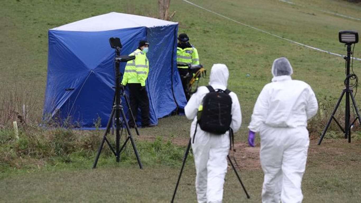
POLYGON ((209 85, 221 85, 227 88, 229 77, 228 68, 225 64, 213 64, 210 70, 209 85))

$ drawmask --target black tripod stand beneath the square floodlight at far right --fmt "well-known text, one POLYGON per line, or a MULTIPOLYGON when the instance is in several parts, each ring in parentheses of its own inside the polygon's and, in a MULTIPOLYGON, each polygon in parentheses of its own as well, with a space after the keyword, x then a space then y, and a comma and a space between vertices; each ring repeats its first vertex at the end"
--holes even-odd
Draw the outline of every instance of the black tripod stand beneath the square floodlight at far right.
MULTIPOLYGON (((341 38, 340 38, 340 42, 342 42, 341 38)), ((355 43, 355 42, 353 42, 353 43, 355 43)), ((357 43, 357 41, 356 41, 356 43, 357 43)), ((349 143, 351 142, 351 128, 352 128, 351 126, 353 126, 353 124, 356 122, 356 120, 358 120, 358 122, 361 124, 361 117, 360 117, 360 114, 358 113, 358 108, 357 108, 357 105, 355 102, 355 98, 353 97, 353 94, 352 94, 352 88, 349 87, 349 85, 350 85, 349 79, 352 76, 352 75, 350 75, 350 56, 352 53, 351 52, 351 44, 352 43, 346 43, 347 56, 344 57, 344 59, 346 60, 345 88, 342 90, 341 96, 340 96, 339 100, 337 101, 334 111, 332 112, 332 115, 330 116, 329 121, 327 122, 326 127, 322 132, 321 138, 318 141, 318 145, 321 144, 322 139, 325 136, 327 128, 329 128, 329 125, 331 124, 332 119, 335 120, 336 124, 343 131, 343 133, 345 134, 345 139, 348 139, 349 143), (342 126, 339 124, 339 122, 336 120, 336 118, 334 116, 335 116, 336 110, 339 107, 344 95, 346 95, 346 107, 345 107, 345 128, 343 129, 342 126), (355 118, 355 120, 353 120, 353 122, 351 124, 350 124, 350 96, 352 99, 353 107, 355 108, 355 111, 357 114, 357 117, 355 118)))

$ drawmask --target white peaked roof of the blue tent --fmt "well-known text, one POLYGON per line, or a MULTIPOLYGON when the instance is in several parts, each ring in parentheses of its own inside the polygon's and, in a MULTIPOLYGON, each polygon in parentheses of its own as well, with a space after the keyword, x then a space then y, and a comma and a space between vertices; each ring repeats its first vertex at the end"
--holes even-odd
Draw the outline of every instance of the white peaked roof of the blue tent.
POLYGON ((107 13, 100 16, 86 18, 66 25, 55 27, 51 30, 64 31, 106 31, 130 27, 160 27, 178 24, 177 22, 164 21, 156 18, 137 16, 126 13, 107 13))

